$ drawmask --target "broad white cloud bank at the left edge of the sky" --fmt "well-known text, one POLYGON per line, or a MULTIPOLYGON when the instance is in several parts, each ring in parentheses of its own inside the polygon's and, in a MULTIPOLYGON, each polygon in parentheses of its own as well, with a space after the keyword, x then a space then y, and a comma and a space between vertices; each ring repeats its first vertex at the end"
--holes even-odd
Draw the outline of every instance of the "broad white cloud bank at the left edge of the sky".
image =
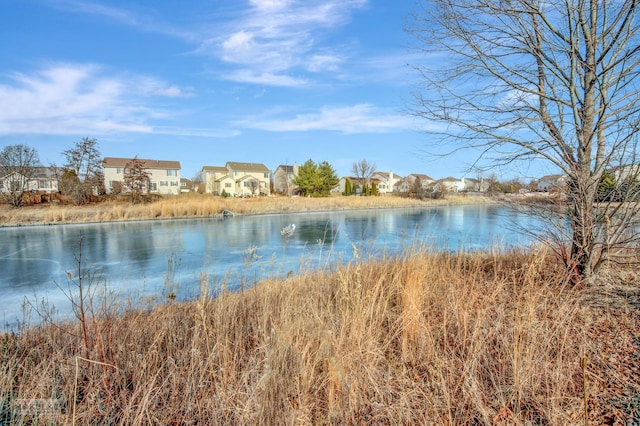
POLYGON ((0 83, 0 135, 154 133, 152 122, 170 115, 149 97, 191 93, 145 76, 107 76, 95 65, 56 64, 7 77, 0 83))

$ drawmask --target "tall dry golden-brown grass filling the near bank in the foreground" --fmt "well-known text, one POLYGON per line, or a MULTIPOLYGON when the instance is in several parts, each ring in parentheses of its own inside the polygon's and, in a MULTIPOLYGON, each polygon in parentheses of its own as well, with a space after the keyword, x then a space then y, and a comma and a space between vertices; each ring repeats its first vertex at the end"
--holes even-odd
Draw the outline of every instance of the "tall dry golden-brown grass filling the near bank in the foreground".
POLYGON ((555 265, 541 252, 356 253, 215 299, 202 277, 191 303, 97 308, 86 340, 77 322, 3 336, 0 423, 33 420, 9 417, 15 401, 54 398, 41 421, 566 425, 585 424, 586 397, 589 424, 626 424, 637 307, 595 303, 602 293, 566 287, 555 265))

